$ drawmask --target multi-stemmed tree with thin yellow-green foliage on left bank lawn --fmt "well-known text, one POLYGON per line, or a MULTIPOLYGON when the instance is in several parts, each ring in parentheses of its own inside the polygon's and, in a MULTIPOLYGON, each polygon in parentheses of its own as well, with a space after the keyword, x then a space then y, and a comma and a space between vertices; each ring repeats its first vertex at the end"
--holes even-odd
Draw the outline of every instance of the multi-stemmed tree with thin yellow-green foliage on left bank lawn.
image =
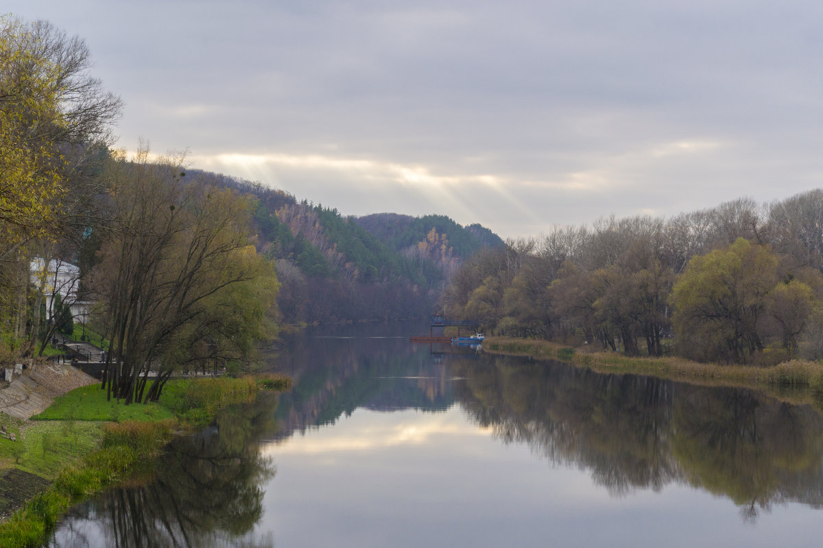
POLYGON ((179 159, 152 162, 147 149, 112 159, 108 177, 93 285, 111 340, 104 387, 128 404, 158 398, 180 366, 250 352, 278 284, 254 250, 243 196, 188 182, 179 159))

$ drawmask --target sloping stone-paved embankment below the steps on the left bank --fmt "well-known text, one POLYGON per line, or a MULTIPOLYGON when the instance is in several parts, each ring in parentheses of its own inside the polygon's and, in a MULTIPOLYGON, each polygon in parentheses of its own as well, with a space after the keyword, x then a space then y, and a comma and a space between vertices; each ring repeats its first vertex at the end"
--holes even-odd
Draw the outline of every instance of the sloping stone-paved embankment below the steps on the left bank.
POLYGON ((0 390, 0 412, 27 420, 45 411, 54 398, 98 382, 67 364, 35 364, 0 390))

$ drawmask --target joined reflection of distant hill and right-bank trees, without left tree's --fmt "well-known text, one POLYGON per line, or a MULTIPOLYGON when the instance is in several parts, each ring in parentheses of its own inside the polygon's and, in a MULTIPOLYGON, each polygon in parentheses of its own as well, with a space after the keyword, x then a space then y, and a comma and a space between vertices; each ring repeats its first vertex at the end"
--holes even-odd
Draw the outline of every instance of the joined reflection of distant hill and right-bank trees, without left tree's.
POLYGON ((279 439, 358 407, 439 412, 458 403, 503 443, 584 468, 612 496, 694 486, 728 497, 750 520, 772 504, 823 504, 823 418, 810 406, 344 329, 335 335, 346 343, 309 334, 281 356, 295 389, 281 399, 279 439))

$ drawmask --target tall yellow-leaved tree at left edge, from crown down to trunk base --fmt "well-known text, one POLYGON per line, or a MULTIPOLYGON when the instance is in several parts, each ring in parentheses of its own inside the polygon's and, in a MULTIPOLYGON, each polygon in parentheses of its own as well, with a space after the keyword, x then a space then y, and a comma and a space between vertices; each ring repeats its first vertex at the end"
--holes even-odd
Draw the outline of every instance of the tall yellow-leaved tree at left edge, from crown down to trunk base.
MULTIPOLYGON (((90 159, 110 142, 122 106, 90 67, 82 39, 0 16, 0 331, 26 335, 26 352, 45 304, 37 288, 27 302, 29 260, 61 258, 58 242, 83 232, 99 191, 86 185, 90 159)), ((68 247, 63 255, 77 251, 68 247)))

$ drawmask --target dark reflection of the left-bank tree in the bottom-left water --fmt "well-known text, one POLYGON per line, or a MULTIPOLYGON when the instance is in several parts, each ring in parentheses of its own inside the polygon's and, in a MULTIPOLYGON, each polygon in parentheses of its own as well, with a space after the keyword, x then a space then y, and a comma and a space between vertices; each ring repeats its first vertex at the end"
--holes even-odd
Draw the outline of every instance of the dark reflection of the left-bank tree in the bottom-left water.
POLYGON ((274 405, 264 394, 253 406, 226 409, 202 433, 174 440, 151 481, 74 509, 52 546, 274 546, 271 535, 248 537, 263 513, 260 486, 274 475, 257 444, 274 430, 274 405))

